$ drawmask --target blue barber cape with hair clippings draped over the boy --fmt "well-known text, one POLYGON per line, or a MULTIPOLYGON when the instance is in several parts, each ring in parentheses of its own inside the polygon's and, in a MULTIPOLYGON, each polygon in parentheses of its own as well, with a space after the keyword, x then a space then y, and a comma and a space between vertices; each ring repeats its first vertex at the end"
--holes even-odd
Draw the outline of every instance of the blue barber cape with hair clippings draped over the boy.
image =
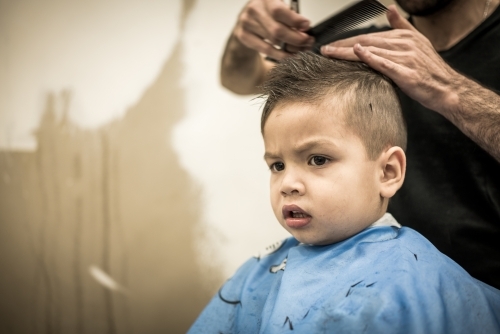
POLYGON ((189 333, 292 331, 500 333, 500 291, 418 232, 375 226, 327 246, 274 245, 238 269, 189 333))

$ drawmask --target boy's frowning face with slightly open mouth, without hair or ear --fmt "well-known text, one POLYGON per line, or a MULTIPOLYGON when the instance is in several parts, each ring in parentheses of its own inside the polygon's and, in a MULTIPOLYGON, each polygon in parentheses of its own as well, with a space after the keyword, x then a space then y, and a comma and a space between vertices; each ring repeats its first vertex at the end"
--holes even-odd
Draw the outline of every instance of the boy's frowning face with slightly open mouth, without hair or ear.
POLYGON ((344 126, 342 109, 340 103, 282 103, 264 126, 271 205, 303 243, 341 241, 385 212, 380 162, 370 161, 361 139, 344 126))

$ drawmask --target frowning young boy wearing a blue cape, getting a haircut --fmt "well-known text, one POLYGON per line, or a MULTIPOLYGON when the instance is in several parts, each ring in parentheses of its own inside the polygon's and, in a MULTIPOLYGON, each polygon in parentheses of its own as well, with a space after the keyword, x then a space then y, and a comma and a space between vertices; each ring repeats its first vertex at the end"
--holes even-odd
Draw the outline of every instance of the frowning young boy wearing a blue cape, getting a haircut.
POLYGON ((293 237, 246 262, 190 333, 500 332, 500 291, 386 213, 406 164, 392 83, 302 53, 263 89, 271 205, 293 237))

